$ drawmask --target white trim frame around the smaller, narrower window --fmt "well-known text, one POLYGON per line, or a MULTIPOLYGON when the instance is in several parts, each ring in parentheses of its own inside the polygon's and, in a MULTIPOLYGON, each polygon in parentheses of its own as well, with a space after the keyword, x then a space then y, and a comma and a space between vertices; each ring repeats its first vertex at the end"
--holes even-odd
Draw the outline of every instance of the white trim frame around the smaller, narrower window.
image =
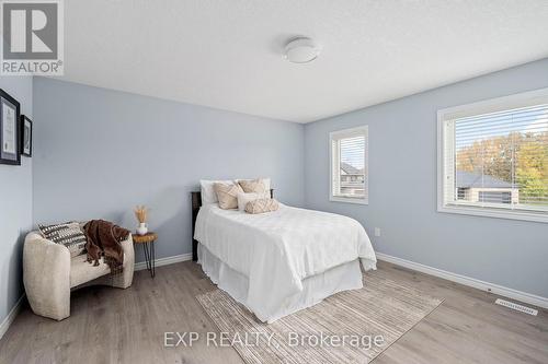
POLYGON ((364 125, 356 128, 335 130, 329 133, 329 200, 332 202, 346 202, 346 203, 357 203, 357 204, 369 204, 369 127, 364 125), (365 172, 365 196, 363 198, 357 197, 341 197, 333 196, 333 149, 332 141, 333 138, 341 138, 341 134, 347 133, 352 136, 356 132, 363 132, 365 134, 365 148, 364 148, 364 172, 365 172))

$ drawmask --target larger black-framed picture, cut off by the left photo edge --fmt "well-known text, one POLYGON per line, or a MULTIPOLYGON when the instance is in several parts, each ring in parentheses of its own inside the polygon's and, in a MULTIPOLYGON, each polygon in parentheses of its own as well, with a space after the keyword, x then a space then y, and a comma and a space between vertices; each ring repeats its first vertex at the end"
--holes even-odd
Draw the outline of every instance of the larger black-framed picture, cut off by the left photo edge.
POLYGON ((21 105, 0 89, 0 164, 21 164, 20 117, 21 105))

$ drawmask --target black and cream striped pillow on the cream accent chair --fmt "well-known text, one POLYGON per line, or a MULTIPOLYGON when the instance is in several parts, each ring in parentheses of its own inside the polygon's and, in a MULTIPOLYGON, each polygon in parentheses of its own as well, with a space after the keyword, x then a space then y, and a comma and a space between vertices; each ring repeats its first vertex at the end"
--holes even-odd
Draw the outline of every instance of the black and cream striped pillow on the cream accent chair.
POLYGON ((38 225, 42 236, 56 244, 65 245, 70 257, 76 257, 84 253, 88 239, 77 222, 67 222, 56 225, 38 225))

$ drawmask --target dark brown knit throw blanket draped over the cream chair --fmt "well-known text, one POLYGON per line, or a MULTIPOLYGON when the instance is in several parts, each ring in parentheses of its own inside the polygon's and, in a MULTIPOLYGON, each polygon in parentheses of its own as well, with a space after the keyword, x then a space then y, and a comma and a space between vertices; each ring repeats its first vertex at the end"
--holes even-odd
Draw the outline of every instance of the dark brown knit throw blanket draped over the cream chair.
POLYGON ((111 268, 111 274, 119 274, 124 268, 124 249, 121 242, 129 235, 129 231, 104 220, 91 220, 83 225, 83 232, 88 237, 85 250, 88 250, 88 261, 99 266, 99 259, 103 260, 111 268))

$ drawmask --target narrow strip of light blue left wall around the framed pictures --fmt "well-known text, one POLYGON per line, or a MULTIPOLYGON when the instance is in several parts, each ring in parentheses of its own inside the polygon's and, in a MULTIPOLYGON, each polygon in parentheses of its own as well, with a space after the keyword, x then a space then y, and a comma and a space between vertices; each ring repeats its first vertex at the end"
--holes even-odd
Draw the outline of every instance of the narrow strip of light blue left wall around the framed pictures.
MULTIPOLYGON (((33 119, 31 78, 0 77, 0 89, 33 119)), ((0 322, 23 294, 23 238, 32 227, 32 164, 25 156, 21 166, 0 164, 0 322)))

